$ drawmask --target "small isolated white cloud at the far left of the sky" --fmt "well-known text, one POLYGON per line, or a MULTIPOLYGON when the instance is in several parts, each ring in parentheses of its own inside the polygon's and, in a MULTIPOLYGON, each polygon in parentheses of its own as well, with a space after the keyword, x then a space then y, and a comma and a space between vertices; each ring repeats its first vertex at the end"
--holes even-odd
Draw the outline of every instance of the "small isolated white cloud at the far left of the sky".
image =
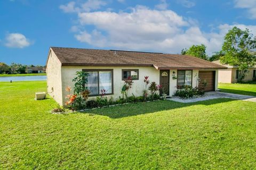
POLYGON ((8 33, 5 38, 5 46, 11 48, 24 48, 31 45, 29 39, 27 39, 21 33, 8 33))

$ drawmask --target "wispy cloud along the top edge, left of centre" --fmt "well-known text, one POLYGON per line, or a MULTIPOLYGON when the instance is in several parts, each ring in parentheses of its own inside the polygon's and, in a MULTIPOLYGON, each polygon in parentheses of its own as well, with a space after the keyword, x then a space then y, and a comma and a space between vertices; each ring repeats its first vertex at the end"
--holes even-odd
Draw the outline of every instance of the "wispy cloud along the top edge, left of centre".
POLYGON ((90 12, 91 10, 98 10, 101 6, 105 6, 106 4, 105 1, 101 0, 88 0, 85 3, 77 4, 79 7, 76 7, 76 3, 71 1, 66 5, 60 5, 60 8, 66 13, 90 12))

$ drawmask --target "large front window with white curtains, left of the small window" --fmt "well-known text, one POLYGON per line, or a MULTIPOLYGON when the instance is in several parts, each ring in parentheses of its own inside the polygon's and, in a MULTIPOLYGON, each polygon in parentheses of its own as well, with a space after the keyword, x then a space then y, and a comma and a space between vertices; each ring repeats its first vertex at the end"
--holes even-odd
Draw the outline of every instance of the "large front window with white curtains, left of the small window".
POLYGON ((90 96, 99 96, 101 90, 107 90, 106 94, 113 94, 113 70, 83 70, 88 73, 85 86, 91 91, 90 96))

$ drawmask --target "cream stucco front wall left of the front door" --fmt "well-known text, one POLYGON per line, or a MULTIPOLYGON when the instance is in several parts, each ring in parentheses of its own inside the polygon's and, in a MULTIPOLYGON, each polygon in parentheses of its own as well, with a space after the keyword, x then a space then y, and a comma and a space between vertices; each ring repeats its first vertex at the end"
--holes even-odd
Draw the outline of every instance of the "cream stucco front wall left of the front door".
MULTIPOLYGON (((122 69, 139 69, 139 80, 133 80, 132 89, 130 90, 130 95, 132 93, 135 96, 142 96, 143 90, 145 89, 145 83, 143 82, 145 76, 149 76, 150 82, 155 81, 159 84, 159 70, 154 67, 110 67, 110 66, 62 66, 62 103, 65 103, 65 96, 68 94, 65 91, 67 86, 74 88, 74 82, 72 80, 76 77, 77 71, 82 71, 83 69, 113 69, 113 79, 114 79, 114 95, 107 95, 108 98, 113 97, 115 100, 122 96, 121 89, 124 86, 124 81, 122 80, 122 69)), ((95 99, 96 97, 90 97, 90 99, 95 99)))

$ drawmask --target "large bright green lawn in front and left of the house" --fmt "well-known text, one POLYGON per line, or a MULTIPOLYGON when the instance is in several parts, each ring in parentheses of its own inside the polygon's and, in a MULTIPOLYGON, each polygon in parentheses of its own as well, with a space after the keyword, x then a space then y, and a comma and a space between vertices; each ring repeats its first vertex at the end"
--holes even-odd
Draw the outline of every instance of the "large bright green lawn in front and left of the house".
POLYGON ((46 82, 0 82, 0 169, 253 169, 256 103, 155 101, 50 114, 46 82))

